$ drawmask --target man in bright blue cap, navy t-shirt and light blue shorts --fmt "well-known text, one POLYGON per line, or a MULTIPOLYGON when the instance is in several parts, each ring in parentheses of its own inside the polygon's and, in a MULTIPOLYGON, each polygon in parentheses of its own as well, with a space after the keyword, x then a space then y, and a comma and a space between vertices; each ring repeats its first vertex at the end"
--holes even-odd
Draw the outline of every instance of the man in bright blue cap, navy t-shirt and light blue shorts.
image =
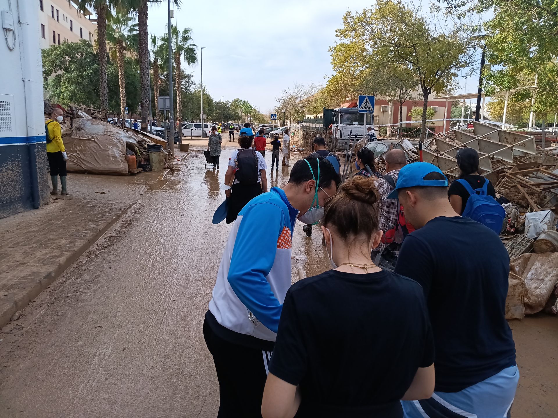
POLYGON ((403 401, 408 418, 509 416, 519 371, 504 318, 509 256, 498 235, 461 217, 436 166, 403 167, 395 190, 416 229, 395 272, 416 280, 429 307, 436 358, 431 398, 403 401))

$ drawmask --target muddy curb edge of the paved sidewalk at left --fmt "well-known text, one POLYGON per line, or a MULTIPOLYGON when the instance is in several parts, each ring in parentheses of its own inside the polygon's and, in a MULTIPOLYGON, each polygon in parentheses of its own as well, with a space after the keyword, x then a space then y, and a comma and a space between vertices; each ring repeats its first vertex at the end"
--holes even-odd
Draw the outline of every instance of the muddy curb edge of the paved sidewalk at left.
POLYGON ((85 251, 95 244, 112 227, 118 220, 131 208, 135 203, 131 203, 125 207, 118 215, 112 217, 109 221, 104 222, 102 227, 95 233, 93 237, 85 240, 78 248, 73 250, 63 263, 56 266, 55 269, 49 271, 42 277, 33 278, 34 284, 11 291, 7 294, 0 294, 0 328, 10 322, 10 318, 18 310, 25 308, 31 300, 35 299, 39 294, 45 290, 51 283, 53 283, 66 269, 69 268, 85 251))

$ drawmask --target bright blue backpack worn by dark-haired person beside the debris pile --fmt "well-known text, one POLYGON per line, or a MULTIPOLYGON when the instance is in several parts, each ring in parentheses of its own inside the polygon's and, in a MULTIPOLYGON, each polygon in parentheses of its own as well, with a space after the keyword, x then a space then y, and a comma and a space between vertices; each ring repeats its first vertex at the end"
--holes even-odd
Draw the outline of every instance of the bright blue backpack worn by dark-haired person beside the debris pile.
POLYGON ((500 234, 504 218, 506 217, 506 211, 504 211, 504 208, 499 205, 496 199, 487 195, 488 178, 484 179, 483 187, 474 190, 464 179, 455 181, 465 187, 465 190, 468 191, 470 195, 461 216, 466 216, 473 221, 480 222, 484 226, 488 226, 491 230, 496 232, 496 234, 500 234))

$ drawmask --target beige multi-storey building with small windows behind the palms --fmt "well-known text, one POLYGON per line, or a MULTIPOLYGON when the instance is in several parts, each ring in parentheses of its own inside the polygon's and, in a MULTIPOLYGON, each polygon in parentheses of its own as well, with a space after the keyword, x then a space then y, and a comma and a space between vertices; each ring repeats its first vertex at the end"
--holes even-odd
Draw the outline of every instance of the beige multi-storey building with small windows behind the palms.
POLYGON ((97 22, 89 10, 81 13, 78 0, 27 0, 39 3, 39 36, 41 49, 62 42, 97 38, 97 22))

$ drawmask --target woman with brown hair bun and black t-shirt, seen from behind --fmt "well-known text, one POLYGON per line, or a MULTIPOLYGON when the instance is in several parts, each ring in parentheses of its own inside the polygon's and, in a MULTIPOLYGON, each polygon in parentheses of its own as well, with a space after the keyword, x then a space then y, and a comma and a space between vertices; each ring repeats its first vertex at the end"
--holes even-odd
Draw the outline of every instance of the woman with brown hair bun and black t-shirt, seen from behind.
POLYGON ((434 343, 419 284, 372 263, 378 191, 355 176, 325 201, 332 270, 287 291, 262 416, 401 418, 434 390, 434 343))

